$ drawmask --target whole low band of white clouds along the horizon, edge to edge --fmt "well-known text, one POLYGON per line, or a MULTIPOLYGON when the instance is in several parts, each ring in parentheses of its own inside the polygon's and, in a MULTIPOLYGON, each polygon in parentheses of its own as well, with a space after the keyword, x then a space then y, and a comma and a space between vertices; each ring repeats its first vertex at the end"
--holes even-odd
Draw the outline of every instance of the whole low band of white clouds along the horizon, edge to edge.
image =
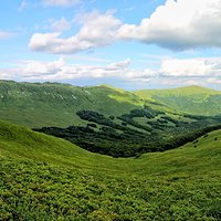
MULTIPOLYGON (((106 62, 105 62, 106 63, 106 62)), ((115 77, 130 82, 157 82, 161 85, 221 85, 221 57, 162 60, 158 70, 130 67, 130 60, 106 65, 71 64, 64 59, 52 62, 22 61, 13 69, 1 69, 0 78, 20 81, 66 81, 115 77)))

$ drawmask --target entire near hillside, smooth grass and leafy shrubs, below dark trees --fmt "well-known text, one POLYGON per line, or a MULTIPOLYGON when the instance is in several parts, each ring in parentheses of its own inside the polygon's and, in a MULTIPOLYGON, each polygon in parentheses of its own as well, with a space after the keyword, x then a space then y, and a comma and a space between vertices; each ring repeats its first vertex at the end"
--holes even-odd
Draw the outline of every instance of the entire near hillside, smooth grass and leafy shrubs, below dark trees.
POLYGON ((112 158, 0 123, 0 220, 219 220, 221 130, 112 158))

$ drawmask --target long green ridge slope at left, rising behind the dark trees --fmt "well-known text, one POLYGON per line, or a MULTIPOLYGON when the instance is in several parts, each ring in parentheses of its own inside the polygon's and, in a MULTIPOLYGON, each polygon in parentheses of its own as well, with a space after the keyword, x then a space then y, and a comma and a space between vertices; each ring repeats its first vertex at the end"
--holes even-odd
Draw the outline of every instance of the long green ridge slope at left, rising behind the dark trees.
POLYGON ((0 81, 1 119, 29 127, 82 125, 84 123, 75 114, 80 109, 120 115, 143 104, 133 93, 108 86, 0 81))

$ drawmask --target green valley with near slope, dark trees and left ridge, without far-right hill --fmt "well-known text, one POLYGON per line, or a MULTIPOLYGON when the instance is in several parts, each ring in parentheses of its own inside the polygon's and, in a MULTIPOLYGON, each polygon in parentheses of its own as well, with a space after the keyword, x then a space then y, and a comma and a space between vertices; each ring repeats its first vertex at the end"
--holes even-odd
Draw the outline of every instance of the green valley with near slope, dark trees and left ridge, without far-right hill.
POLYGON ((219 114, 108 85, 0 94, 0 220, 220 220, 219 114))

